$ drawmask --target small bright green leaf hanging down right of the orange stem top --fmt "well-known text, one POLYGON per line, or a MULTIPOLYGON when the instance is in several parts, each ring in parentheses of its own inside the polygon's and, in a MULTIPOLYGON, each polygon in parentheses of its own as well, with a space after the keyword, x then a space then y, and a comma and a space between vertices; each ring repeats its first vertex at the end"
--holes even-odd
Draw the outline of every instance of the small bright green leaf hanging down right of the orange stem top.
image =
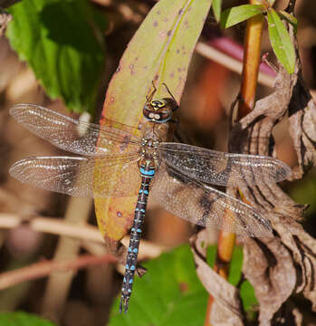
POLYGON ((267 14, 270 42, 278 60, 282 63, 287 72, 294 72, 295 50, 290 35, 286 30, 279 15, 273 9, 267 14))

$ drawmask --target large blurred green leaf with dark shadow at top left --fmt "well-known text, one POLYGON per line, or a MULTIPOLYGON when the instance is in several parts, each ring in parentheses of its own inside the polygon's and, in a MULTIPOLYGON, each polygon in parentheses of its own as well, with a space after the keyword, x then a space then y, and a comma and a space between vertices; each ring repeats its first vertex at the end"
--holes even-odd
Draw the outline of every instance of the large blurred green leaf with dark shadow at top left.
POLYGON ((24 0, 9 9, 7 37, 53 99, 94 110, 104 64, 106 22, 87 0, 24 0))

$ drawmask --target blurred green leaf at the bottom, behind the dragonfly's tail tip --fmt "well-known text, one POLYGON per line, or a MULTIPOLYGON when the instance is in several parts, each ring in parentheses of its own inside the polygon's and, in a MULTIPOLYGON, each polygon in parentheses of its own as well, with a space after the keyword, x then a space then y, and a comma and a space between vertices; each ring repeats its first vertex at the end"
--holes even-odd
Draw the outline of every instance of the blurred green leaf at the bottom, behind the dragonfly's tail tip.
POLYGON ((118 299, 109 325, 203 325, 208 295, 196 277, 189 246, 162 254, 144 265, 148 273, 135 277, 129 312, 119 313, 118 299))

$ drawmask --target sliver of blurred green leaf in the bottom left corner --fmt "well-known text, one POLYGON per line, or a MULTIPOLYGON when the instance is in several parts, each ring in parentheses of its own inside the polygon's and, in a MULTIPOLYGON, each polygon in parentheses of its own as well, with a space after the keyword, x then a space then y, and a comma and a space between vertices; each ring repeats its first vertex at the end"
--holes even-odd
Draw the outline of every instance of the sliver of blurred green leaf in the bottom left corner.
POLYGON ((26 312, 1 312, 0 325, 4 326, 54 326, 52 321, 45 321, 26 312))

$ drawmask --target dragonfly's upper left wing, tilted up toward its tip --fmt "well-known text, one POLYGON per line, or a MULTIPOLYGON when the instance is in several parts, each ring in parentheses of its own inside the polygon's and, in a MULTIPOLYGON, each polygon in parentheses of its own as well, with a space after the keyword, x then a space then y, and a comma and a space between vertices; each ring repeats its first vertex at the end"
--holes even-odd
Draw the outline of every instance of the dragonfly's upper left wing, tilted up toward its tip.
POLYGON ((135 153, 139 138, 127 131, 75 120, 34 104, 17 104, 10 114, 36 136, 80 155, 104 156, 109 152, 135 153))

